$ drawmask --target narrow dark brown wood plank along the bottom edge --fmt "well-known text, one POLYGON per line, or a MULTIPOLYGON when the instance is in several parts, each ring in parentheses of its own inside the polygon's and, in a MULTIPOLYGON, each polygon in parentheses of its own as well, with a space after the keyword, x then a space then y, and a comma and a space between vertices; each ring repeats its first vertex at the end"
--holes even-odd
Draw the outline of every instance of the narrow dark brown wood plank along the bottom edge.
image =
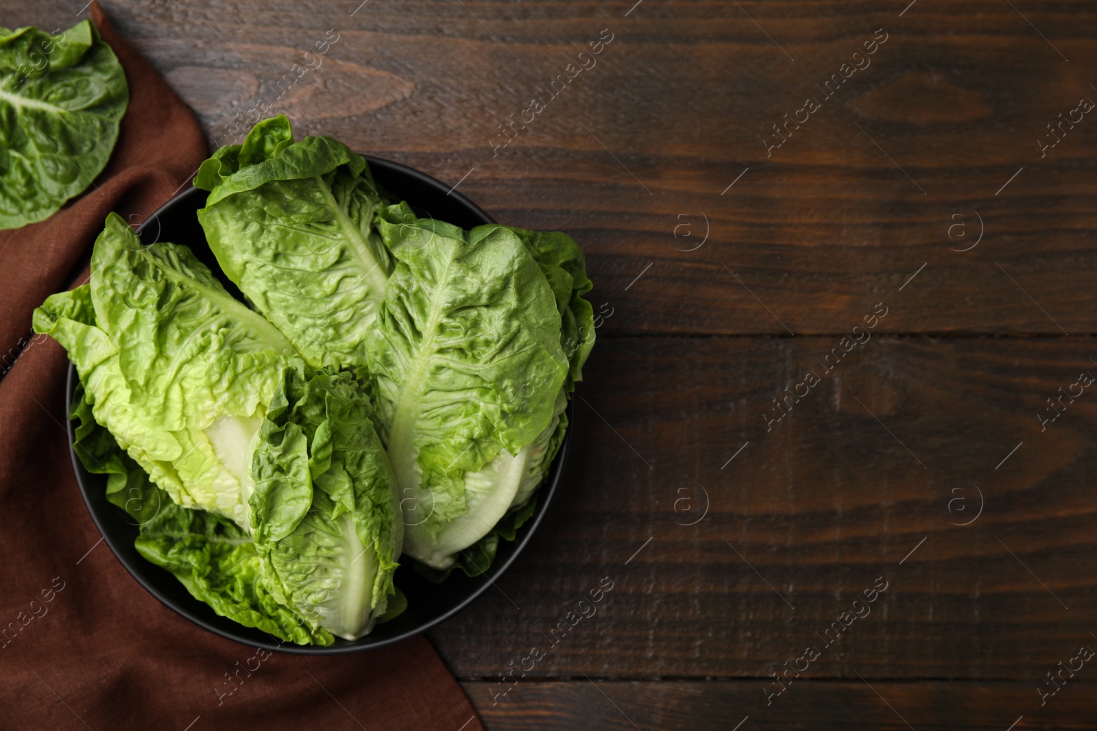
POLYGON ((768 707, 762 687, 762 681, 622 683, 580 676, 573 683, 519 683, 491 705, 488 684, 464 684, 488 731, 1062 731, 1092 729, 1097 711, 1092 681, 1066 684, 1042 707, 1033 685, 1024 683, 794 683, 768 707))

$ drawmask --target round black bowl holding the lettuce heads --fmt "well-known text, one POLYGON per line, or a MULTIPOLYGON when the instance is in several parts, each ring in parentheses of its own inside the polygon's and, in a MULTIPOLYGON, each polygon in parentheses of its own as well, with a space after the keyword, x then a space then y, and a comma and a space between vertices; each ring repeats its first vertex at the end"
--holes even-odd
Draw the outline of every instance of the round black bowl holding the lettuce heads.
MULTIPOLYGON (((388 160, 366 158, 370 169, 395 199, 404 199, 411 204, 420 217, 432 217, 454 224, 462 228, 473 228, 482 224, 495 221, 465 196, 434 180, 430 175, 412 170, 406 165, 388 160)), ((194 212, 205 205, 206 193, 190 189, 166 203, 154 213, 139 229, 138 235, 146 243, 155 241, 172 241, 184 243, 222 279, 226 288, 240 296, 239 289, 220 273, 216 259, 206 244, 205 235, 199 225, 194 212)), ((76 368, 69 366, 67 403, 71 407, 72 389, 77 382, 76 368)), ((568 420, 572 421, 572 407, 568 407, 568 420)), ((71 449, 76 422, 69 422, 69 447, 71 449)), ((122 566, 133 574, 142 586, 147 589, 166 606, 174 609, 195 625, 208 629, 222 637, 236 640, 251 647, 262 647, 280 652, 295 654, 342 654, 358 652, 370 648, 380 648, 398 642, 405 638, 418 635, 434 625, 449 619, 461 612, 476 597, 487 591, 487 587, 514 562, 518 555, 533 536, 541 523, 544 512, 552 501, 553 493, 559 482, 567 460, 572 432, 568 430, 564 445, 548 470, 545 483, 538 491, 538 506, 533 516, 519 529, 514 541, 499 541, 499 551, 487 574, 470 578, 461 571, 454 571, 450 578, 440 584, 421 578, 410 566, 410 559, 405 559, 396 571, 396 585, 404 591, 408 599, 408 608, 403 615, 384 625, 378 625, 372 632, 353 642, 337 639, 328 647, 297 646, 281 643, 276 638, 258 629, 244 627, 230 619, 218 616, 206 604, 199 602, 188 593, 179 581, 166 570, 143 559, 134 548, 137 537, 137 526, 122 509, 109 503, 105 498, 106 478, 103 475, 88 472, 72 450, 72 467, 76 470, 77 484, 88 504, 95 526, 111 547, 122 566)))

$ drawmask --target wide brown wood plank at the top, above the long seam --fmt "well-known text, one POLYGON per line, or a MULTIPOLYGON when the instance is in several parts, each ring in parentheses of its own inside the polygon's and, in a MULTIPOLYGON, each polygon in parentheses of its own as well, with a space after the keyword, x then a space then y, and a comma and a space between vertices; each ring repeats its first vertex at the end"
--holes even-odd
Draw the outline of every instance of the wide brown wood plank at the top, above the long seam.
MULTIPOLYGON (((569 231, 608 332, 841 332, 923 265, 883 331, 1094 332, 1097 123, 1037 144, 1097 99, 1093 3, 464 4, 104 2, 213 141, 265 100, 301 134, 467 174, 505 222, 569 231), (597 65, 546 94, 607 27, 597 65), (871 65, 824 98, 878 28, 871 65), (316 68, 289 84, 294 64, 316 68), (534 95, 545 110, 495 151, 534 95), (808 95, 818 112, 768 150, 808 95)), ((67 0, 0 10, 73 20, 67 0)))

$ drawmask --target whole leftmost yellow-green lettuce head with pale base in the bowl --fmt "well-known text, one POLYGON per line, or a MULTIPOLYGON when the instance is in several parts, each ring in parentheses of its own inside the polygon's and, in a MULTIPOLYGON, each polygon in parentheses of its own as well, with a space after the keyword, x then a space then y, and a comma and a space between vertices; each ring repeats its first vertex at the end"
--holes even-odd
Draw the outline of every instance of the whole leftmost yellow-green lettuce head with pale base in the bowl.
POLYGON ((65 295, 55 295, 43 308, 43 330, 69 351, 97 402, 116 412, 97 409, 97 419, 173 501, 250 529, 251 453, 295 353, 290 341, 225 292, 186 247, 142 245, 116 214, 95 240, 91 265, 92 317, 58 320, 64 312, 53 310, 65 307, 65 295), (109 375, 86 375, 111 351, 109 375), (101 399, 101 390, 117 399, 101 399))

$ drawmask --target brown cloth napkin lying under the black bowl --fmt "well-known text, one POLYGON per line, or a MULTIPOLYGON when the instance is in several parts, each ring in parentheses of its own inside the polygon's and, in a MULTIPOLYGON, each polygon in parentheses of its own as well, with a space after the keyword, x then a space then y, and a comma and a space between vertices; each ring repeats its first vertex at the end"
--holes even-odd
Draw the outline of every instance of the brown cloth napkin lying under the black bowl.
POLYGON ((87 278, 109 212, 142 220, 189 183, 206 144, 98 4, 91 13, 129 81, 117 147, 80 198, 0 231, 0 728, 483 731, 421 637, 337 658, 275 653, 220 697, 255 650, 162 606, 100 542, 69 462, 68 361, 52 339, 32 340, 31 312, 87 278))

